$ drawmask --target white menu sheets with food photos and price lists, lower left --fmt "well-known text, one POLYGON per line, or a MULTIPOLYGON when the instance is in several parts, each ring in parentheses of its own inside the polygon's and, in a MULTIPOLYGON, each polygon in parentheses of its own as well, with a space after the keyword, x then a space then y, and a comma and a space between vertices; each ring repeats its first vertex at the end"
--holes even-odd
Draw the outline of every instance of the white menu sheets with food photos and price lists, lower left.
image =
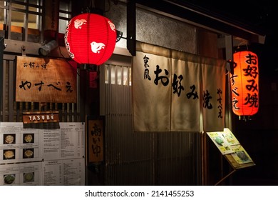
POLYGON ((85 125, 0 123, 0 185, 85 185, 85 125))

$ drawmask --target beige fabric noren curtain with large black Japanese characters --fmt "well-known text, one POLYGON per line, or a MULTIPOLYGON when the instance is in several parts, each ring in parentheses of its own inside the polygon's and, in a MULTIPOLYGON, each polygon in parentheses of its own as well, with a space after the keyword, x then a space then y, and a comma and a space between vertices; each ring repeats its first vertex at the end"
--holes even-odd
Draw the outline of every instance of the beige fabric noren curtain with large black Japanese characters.
POLYGON ((135 131, 222 131, 225 65, 138 41, 132 65, 135 131))

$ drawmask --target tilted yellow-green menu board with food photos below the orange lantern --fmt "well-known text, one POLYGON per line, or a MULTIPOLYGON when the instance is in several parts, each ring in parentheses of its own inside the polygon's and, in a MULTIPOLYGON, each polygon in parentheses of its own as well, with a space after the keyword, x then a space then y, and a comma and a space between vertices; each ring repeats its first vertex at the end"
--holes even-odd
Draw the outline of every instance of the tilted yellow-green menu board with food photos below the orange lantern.
POLYGON ((210 136, 217 149, 225 155, 235 169, 244 167, 243 164, 248 164, 246 166, 254 165, 254 161, 230 129, 225 128, 224 131, 207 132, 207 135, 210 136))

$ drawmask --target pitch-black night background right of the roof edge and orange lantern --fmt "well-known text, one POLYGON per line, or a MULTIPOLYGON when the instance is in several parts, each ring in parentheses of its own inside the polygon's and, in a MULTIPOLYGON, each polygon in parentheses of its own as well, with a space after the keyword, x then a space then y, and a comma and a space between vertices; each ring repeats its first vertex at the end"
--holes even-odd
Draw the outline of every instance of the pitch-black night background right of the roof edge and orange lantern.
MULTIPOLYGON (((251 121, 235 119, 234 134, 256 166, 231 176, 232 185, 278 185, 278 65, 277 15, 274 1, 187 1, 219 19, 265 36, 264 44, 250 44, 259 58, 259 111, 251 121)), ((210 149, 210 154, 215 149, 210 149)), ((217 159, 216 159, 217 160, 217 159)), ((228 165, 228 164, 227 164, 228 165)), ((213 167, 211 172, 213 174, 213 167)), ((216 169, 218 170, 218 169, 216 169)))

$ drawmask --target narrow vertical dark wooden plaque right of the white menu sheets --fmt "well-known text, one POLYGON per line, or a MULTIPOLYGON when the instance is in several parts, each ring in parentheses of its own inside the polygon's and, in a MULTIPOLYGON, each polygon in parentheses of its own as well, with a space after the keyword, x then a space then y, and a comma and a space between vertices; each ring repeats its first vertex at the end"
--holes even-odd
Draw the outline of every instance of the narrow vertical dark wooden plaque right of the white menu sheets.
POLYGON ((104 117, 86 116, 86 163, 94 165, 104 161, 104 117))

